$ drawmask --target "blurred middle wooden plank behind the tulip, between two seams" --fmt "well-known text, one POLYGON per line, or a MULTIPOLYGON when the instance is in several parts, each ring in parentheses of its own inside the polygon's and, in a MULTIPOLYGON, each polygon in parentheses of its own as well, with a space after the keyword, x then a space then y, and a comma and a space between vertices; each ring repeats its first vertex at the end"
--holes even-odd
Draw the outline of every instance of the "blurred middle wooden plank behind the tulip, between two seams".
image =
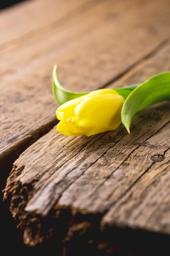
MULTIPOLYGON (((115 16, 115 9, 112 8, 115 2, 107 1, 101 2, 98 8, 85 10, 78 17, 72 18, 72 22, 66 24, 67 29, 71 29, 69 36, 73 34, 73 37, 70 36, 71 43, 64 44, 66 37, 63 36, 59 40, 60 46, 54 47, 55 40, 58 40, 56 38, 63 34, 62 29, 61 34, 54 33, 54 38, 50 35, 50 40, 44 39, 46 43, 42 49, 39 47, 39 42, 43 42, 40 37, 35 40, 36 43, 34 40, 28 42, 30 51, 23 45, 23 48, 18 47, 17 53, 17 46, 13 48, 13 54, 10 49, 9 55, 5 53, 6 62, 2 62, 5 66, 1 85, 3 94, 0 101, 3 107, 0 128, 1 166, 11 164, 13 159, 56 122, 56 104, 50 86, 52 65, 56 60, 61 67, 59 74, 63 84, 72 85, 72 90, 94 90, 124 74, 165 42, 169 31, 169 1, 164 0, 161 7, 159 1, 154 1, 154 5, 152 1, 144 1, 141 5, 136 0, 135 3, 131 1, 130 5, 128 2, 125 7, 126 1, 121 4, 119 2, 116 2, 116 6, 120 15, 115 16), (128 5, 129 9, 126 8, 128 5), (148 11, 151 7, 152 15, 148 11), (104 14, 100 19, 101 13, 104 14), (96 16, 99 17, 98 24, 94 18, 96 16), (81 20, 83 27, 78 27, 81 20), (91 25, 92 30, 89 29, 91 25), (78 37, 81 29, 83 32, 78 37), (24 54, 23 59, 19 57, 20 54, 24 54), (19 58, 20 61, 17 61, 19 58), (29 63, 26 67, 25 62, 29 63)), ((47 34, 44 38, 48 38, 47 34)))

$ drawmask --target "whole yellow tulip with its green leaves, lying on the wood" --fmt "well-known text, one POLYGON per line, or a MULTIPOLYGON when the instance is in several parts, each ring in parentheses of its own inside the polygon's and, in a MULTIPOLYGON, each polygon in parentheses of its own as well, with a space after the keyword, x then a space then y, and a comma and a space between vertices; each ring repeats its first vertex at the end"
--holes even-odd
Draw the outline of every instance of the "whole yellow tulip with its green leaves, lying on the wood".
POLYGON ((56 112, 60 120, 57 131, 64 135, 90 136, 115 130, 121 122, 130 133, 137 112, 155 103, 170 101, 170 72, 152 76, 144 83, 80 93, 62 87, 57 65, 54 65, 52 90, 61 105, 56 112))

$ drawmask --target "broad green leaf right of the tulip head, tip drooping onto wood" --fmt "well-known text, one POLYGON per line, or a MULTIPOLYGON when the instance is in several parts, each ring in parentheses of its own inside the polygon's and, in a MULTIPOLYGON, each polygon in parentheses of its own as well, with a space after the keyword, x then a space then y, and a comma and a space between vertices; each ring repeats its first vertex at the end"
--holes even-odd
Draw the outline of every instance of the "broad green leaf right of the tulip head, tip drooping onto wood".
POLYGON ((151 77, 129 94, 121 113, 126 130, 130 133, 131 121, 137 112, 166 100, 170 100, 170 72, 151 77))

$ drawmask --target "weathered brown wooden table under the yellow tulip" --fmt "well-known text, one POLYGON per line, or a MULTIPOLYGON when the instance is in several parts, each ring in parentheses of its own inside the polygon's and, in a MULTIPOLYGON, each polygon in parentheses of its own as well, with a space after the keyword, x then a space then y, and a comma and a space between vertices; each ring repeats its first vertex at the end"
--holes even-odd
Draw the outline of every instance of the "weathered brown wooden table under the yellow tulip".
POLYGON ((130 135, 66 137, 51 86, 55 63, 80 92, 170 70, 169 10, 169 0, 30 0, 0 12, 2 188, 12 169, 1 205, 29 247, 170 255, 170 104, 140 112, 130 135))

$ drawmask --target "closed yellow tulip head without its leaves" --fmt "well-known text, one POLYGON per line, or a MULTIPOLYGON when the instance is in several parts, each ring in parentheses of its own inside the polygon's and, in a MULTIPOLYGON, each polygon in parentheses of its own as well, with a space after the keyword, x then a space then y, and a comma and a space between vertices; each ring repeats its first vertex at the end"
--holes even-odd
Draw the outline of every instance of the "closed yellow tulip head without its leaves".
POLYGON ((111 89, 101 89, 72 99, 57 111, 57 131, 70 136, 94 135, 115 130, 121 124, 124 98, 111 89))

